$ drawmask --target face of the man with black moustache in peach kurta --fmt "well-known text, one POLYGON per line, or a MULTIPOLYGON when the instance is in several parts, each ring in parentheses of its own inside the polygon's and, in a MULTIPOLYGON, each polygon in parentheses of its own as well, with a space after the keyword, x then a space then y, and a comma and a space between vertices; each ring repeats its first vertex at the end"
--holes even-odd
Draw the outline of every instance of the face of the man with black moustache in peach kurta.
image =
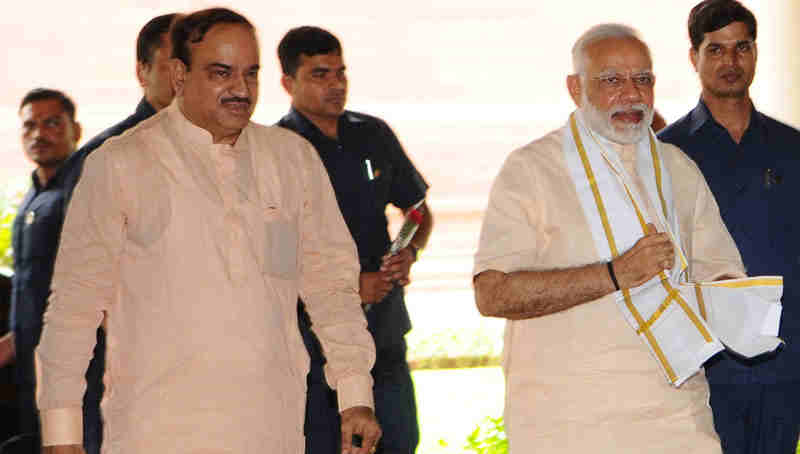
POLYGON ((258 101, 259 51, 253 29, 217 24, 190 44, 190 68, 175 60, 181 111, 211 133, 214 143, 232 144, 247 126, 258 101))

